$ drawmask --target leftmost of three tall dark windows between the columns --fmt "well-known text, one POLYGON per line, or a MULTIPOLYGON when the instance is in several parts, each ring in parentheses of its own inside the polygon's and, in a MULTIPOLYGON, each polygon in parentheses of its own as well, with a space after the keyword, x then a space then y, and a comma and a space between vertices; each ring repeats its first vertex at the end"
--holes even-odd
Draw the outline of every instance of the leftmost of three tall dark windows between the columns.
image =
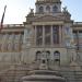
POLYGON ((43 26, 36 26, 36 45, 43 45, 43 26))

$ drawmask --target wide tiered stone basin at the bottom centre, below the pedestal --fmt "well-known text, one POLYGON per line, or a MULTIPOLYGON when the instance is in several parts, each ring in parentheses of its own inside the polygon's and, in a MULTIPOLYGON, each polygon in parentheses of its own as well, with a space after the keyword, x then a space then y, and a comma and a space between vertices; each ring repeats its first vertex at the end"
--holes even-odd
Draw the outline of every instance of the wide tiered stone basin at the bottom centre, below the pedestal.
POLYGON ((66 79, 56 71, 34 70, 30 75, 23 77, 22 82, 66 82, 66 79))

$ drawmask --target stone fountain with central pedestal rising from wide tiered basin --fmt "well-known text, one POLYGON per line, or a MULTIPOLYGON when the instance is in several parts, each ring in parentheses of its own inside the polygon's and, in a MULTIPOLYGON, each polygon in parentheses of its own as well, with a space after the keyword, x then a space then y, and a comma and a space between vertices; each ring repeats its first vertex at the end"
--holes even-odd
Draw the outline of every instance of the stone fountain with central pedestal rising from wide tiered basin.
POLYGON ((66 79, 58 71, 50 70, 45 58, 46 51, 42 51, 43 57, 38 70, 30 71, 30 74, 22 78, 22 82, 66 82, 66 79))

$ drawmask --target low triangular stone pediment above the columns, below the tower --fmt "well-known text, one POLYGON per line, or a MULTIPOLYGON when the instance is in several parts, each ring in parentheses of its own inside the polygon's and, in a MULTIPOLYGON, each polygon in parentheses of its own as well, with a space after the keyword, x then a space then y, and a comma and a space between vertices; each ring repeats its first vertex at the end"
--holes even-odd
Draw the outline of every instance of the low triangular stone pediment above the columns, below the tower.
POLYGON ((34 21, 45 22, 45 21, 61 21, 61 20, 63 20, 62 16, 44 15, 44 16, 36 17, 34 21))

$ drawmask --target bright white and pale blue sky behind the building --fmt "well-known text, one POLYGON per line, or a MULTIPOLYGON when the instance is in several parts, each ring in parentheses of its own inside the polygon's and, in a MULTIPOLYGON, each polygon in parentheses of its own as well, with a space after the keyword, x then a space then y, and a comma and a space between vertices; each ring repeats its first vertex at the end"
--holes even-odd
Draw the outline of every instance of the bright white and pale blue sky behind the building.
MULTIPOLYGON (((22 24, 30 9, 35 9, 36 0, 0 0, 0 20, 7 4, 4 24, 22 24)), ((62 8, 67 7, 71 19, 82 22, 82 0, 61 0, 62 8)))

